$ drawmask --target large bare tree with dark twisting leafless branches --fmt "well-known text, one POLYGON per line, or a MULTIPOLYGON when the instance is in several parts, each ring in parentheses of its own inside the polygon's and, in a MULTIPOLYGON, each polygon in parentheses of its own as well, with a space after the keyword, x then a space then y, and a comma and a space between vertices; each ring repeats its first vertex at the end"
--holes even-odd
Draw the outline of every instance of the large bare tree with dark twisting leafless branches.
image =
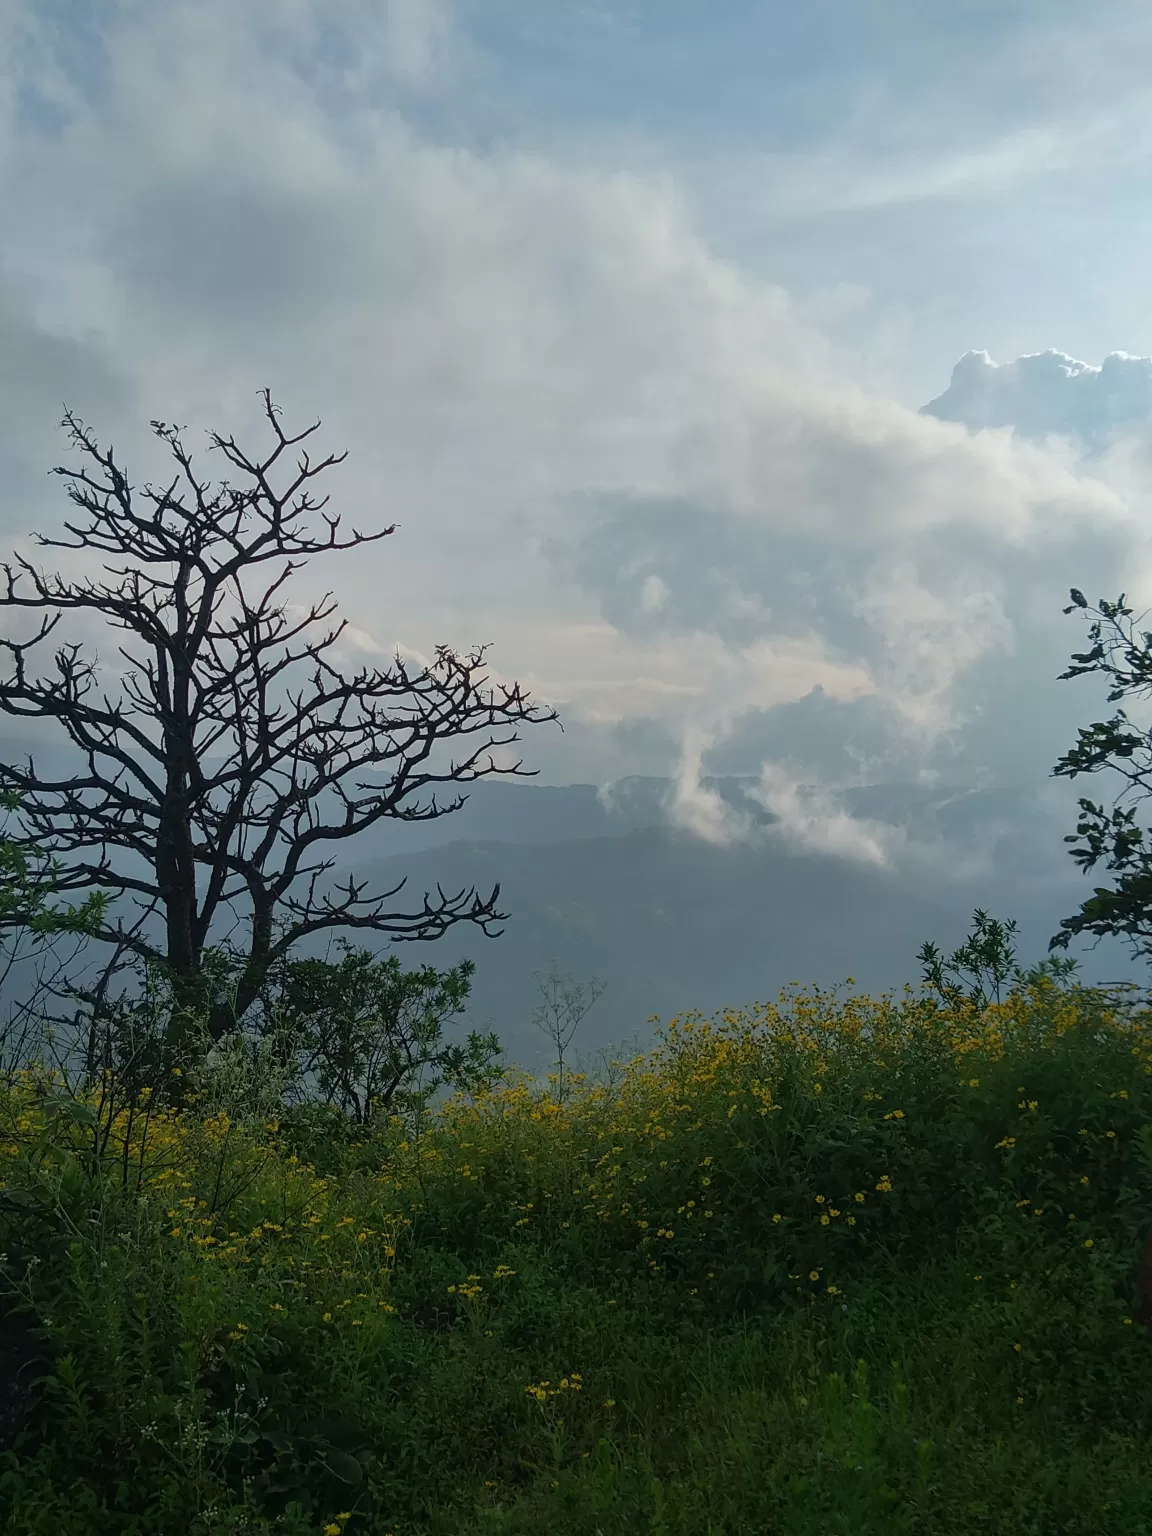
MULTIPOLYGON (((393 667, 344 674, 329 656, 344 622, 329 625, 332 594, 306 611, 290 610, 284 588, 309 558, 373 544, 395 531, 352 530, 315 501, 310 482, 346 453, 313 464, 300 450, 283 490, 272 473, 309 438, 281 430, 267 390, 264 415, 275 435, 270 453, 252 459, 235 438, 209 433, 210 449, 247 478, 215 490, 192 472, 180 427, 152 422, 178 470, 166 488, 129 484, 114 450, 66 412, 61 425, 88 458, 77 470, 55 468, 78 508, 68 538, 37 535, 41 545, 112 556, 106 579, 65 581, 17 556, 3 567, 0 605, 40 610, 29 639, 0 639, 9 667, 0 674, 0 710, 55 720, 83 757, 74 777, 45 779, 29 756, 0 766, 0 790, 18 793, 29 846, 60 856, 57 889, 101 889, 131 899, 135 915, 114 902, 95 937, 138 962, 160 962, 194 995, 214 929, 230 915, 240 975, 229 997, 210 1008, 209 1034, 238 1028, 269 969, 300 940, 326 929, 370 929, 392 940, 439 938, 453 923, 476 923, 488 937, 504 920, 499 885, 422 911, 386 903, 406 882, 370 894, 366 882, 326 880, 333 843, 346 843, 386 817, 430 820, 459 809, 467 796, 438 803, 413 797, 429 786, 470 783, 498 768, 493 746, 518 734, 488 736, 462 762, 433 771, 433 748, 456 737, 493 733, 522 720, 554 720, 530 705, 519 684, 485 688, 484 653, 436 648, 432 667, 393 667), (141 505, 141 501, 144 505, 141 505), (321 513, 323 531, 309 515, 321 513), (115 691, 109 668, 78 642, 55 642, 54 668, 32 664, 66 613, 124 631, 115 691), (482 762, 488 753, 487 763, 482 762), (358 774, 386 770, 382 779, 358 774), (114 859, 112 856, 118 856, 114 859), (238 914, 237 903, 246 908, 238 914), (163 938, 147 919, 163 917, 163 938)), ((561 727, 562 728, 562 727, 561 727)), ((530 774, 522 774, 528 777, 530 774)), ((3 922, 3 914, 0 914, 3 922)), ((174 1014, 174 1020, 177 1015, 174 1014)), ((174 1035, 180 1034, 172 1025, 174 1035)))

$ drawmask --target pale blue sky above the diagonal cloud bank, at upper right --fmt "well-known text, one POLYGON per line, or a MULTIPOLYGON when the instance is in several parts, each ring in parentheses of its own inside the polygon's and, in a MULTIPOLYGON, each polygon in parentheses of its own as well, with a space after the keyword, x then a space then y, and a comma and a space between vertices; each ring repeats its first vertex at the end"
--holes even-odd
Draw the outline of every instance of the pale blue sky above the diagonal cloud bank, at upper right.
MULTIPOLYGON (((68 117, 60 74, 108 103, 115 18, 134 8, 25 6, 37 41, 14 49, 9 78, 23 120, 51 134, 68 117)), ((336 74, 387 11, 316 8, 290 49, 335 131, 364 103, 336 74)), ((1138 303, 1152 15, 1135 0, 392 11, 399 35, 439 49, 424 75, 389 81, 389 106, 430 143, 671 175, 713 252, 808 298, 906 404, 969 347, 1152 350, 1138 303)), ((246 12, 270 57, 290 28, 246 12)))

